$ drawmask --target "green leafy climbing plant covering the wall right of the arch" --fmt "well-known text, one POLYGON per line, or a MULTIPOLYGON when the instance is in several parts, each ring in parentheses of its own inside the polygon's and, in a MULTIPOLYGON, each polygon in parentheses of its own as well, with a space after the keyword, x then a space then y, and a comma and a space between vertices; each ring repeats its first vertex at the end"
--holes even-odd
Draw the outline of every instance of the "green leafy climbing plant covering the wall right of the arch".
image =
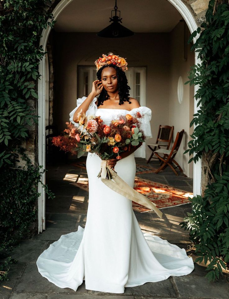
POLYGON ((206 277, 219 278, 229 263, 229 3, 211 0, 206 21, 194 31, 200 33, 191 50, 201 64, 194 65, 185 84, 199 85, 198 108, 190 127, 189 163, 202 158, 201 195, 194 196, 192 213, 180 225, 190 231, 196 262, 207 264, 206 277))

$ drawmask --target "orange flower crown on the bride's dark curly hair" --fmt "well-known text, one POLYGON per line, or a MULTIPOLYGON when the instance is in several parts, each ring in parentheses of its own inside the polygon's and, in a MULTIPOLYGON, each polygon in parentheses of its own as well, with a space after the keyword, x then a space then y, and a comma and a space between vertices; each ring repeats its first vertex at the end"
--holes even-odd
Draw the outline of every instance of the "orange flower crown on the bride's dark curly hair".
POLYGON ((117 67, 120 67, 123 71, 127 71, 127 62, 123 57, 119 57, 118 55, 114 55, 113 53, 108 53, 108 55, 103 54, 103 57, 97 59, 95 61, 96 71, 103 67, 106 64, 114 64, 117 67))

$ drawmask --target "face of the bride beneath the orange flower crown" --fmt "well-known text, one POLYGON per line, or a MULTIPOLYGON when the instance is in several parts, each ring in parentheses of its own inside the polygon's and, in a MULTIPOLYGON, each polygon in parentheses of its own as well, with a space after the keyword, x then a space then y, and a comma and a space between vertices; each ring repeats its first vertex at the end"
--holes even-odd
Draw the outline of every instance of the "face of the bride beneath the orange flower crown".
POLYGON ((108 92, 115 92, 118 90, 117 71, 114 67, 105 67, 101 73, 102 85, 108 92))

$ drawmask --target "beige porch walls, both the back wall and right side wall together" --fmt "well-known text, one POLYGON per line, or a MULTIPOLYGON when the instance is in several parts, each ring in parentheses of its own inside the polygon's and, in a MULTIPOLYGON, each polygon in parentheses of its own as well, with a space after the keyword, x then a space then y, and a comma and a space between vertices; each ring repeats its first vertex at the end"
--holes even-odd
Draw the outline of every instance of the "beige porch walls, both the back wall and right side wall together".
MULTIPOLYGON (((193 114, 193 94, 184 86, 182 104, 177 99, 177 82, 182 76, 187 81, 189 66, 194 64, 194 54, 188 49, 184 56, 184 24, 180 22, 170 33, 137 33, 129 38, 106 39, 95 33, 55 33, 56 76, 54 99, 54 124, 63 131, 69 112, 76 107, 77 65, 94 66, 94 61, 108 52, 127 58, 129 67, 146 67, 146 106, 152 110, 151 128, 155 142, 160 124, 174 125, 177 131, 185 129, 176 160, 187 176, 192 177, 188 154, 183 155, 189 141, 189 123, 193 114), (182 156, 183 155, 183 156, 182 156)), ((151 150, 146 147, 146 159, 151 150)))

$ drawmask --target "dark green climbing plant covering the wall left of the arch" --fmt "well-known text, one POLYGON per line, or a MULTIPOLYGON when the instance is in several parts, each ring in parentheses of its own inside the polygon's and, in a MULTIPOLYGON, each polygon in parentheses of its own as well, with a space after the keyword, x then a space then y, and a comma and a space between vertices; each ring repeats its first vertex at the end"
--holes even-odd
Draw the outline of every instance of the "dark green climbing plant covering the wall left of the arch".
MULTIPOLYGON (((0 0, 0 260, 37 220, 41 166, 31 163, 22 146, 37 130, 38 66, 47 53, 41 32, 56 22, 45 8, 44 0, 0 0)), ((12 262, 7 257, 0 263, 0 280, 12 262)))

